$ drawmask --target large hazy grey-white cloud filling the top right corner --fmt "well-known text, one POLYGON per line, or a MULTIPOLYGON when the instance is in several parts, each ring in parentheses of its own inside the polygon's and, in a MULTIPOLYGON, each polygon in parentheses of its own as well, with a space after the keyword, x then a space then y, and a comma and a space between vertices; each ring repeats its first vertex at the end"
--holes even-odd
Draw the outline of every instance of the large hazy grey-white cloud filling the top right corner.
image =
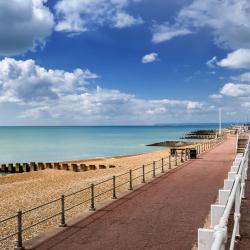
MULTIPOLYGON (((196 32, 202 28, 211 30, 217 45, 232 49, 250 47, 249 0, 193 0, 176 16, 176 22, 167 29, 196 32)), ((153 31, 153 37, 155 36, 153 31)), ((182 33, 184 35, 185 32, 182 33)), ((188 32, 186 34, 189 34, 188 32)), ((166 35, 167 41, 176 35, 166 35)))

